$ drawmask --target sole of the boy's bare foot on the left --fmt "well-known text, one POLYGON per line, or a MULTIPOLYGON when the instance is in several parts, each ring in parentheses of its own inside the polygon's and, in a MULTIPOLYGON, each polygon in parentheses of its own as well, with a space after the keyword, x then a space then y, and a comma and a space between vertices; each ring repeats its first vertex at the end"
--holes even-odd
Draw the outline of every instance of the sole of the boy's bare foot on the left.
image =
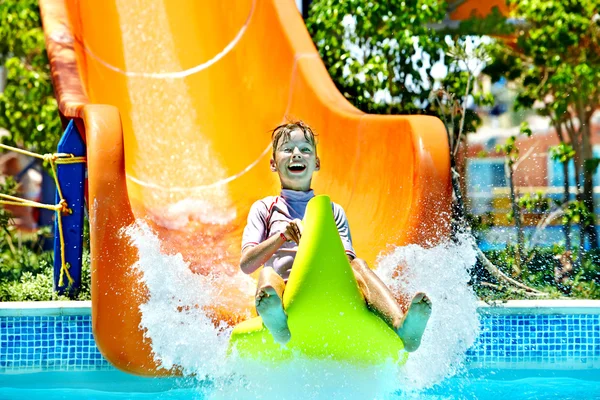
POLYGON ((287 325, 287 314, 272 286, 265 285, 256 293, 256 311, 276 342, 286 344, 290 340, 292 335, 287 325))

